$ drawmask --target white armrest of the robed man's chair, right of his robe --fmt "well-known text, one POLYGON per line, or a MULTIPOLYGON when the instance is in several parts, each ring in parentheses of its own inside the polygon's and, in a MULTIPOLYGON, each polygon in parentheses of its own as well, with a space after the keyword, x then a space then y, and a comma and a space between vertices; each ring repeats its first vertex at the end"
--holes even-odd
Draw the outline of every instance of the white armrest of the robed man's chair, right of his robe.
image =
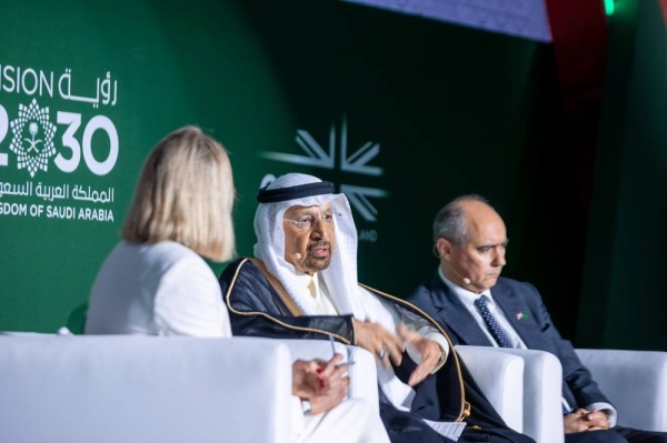
POLYGON ((524 432, 524 360, 486 346, 457 345, 456 351, 505 423, 524 432))

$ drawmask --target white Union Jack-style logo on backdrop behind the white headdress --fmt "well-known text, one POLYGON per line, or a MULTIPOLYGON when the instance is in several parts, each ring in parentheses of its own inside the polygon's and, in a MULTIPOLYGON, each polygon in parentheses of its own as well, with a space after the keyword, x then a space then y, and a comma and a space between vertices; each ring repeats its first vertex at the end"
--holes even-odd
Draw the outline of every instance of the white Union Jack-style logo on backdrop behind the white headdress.
MULTIPOLYGON (((338 153, 340 155, 340 171, 371 177, 382 175, 381 168, 368 164, 380 153, 380 143, 367 141, 354 153, 348 154, 348 129, 345 115, 342 117, 339 134, 337 134, 335 123, 331 123, 327 149, 322 148, 322 143, 318 142, 310 132, 302 129, 297 130, 296 142, 303 150, 306 155, 282 152, 263 152, 262 155, 267 159, 285 163, 335 169, 336 154, 338 153)), ((272 175, 267 175, 265 180, 262 180, 261 187, 268 184, 272 179, 272 175)), ((377 209, 368 198, 384 198, 389 195, 389 193, 382 189, 347 183, 340 184, 340 192, 347 195, 352 208, 355 208, 367 222, 376 222, 378 217, 377 209)))

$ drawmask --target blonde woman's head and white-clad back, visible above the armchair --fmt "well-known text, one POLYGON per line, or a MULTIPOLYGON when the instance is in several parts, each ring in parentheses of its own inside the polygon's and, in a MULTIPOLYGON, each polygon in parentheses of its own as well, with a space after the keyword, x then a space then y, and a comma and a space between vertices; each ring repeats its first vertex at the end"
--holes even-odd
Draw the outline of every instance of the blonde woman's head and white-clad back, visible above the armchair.
POLYGON ((216 275, 200 255, 233 255, 231 165, 198 128, 148 157, 122 239, 90 294, 86 333, 229 336, 216 275))

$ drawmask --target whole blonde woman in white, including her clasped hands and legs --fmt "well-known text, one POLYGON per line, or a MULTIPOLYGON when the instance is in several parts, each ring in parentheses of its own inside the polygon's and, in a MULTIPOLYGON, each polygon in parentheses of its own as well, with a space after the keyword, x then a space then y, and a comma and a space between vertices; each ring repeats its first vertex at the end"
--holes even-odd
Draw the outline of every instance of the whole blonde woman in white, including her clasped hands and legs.
MULTIPOLYGON (((231 336, 216 275, 200 255, 233 254, 235 198, 229 158, 193 127, 167 135, 150 153, 122 228, 90 293, 87 334, 231 336)), ((388 442, 379 416, 348 395, 342 356, 297 361, 292 394, 298 442, 388 442), (298 402, 298 401, 297 401, 298 402)))

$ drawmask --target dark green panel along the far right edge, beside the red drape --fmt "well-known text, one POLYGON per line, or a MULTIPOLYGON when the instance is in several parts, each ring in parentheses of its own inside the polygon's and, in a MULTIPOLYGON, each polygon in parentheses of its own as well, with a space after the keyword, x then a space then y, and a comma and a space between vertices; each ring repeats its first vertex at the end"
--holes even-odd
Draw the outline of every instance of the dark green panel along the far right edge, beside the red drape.
POLYGON ((610 17, 577 340, 667 350, 667 30, 658 1, 610 17))

